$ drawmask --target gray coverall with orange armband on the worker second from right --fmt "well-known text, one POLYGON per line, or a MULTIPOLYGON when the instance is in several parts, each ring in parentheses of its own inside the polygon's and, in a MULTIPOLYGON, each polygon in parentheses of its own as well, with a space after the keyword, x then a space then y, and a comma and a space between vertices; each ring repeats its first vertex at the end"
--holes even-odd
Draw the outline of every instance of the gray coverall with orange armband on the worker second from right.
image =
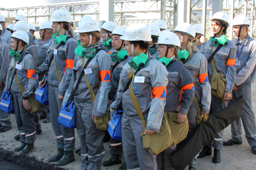
MULTIPOLYGON (((208 59, 212 51, 215 51, 215 49, 218 46, 214 46, 212 50, 212 44, 211 40, 207 40, 204 44, 204 51, 203 54, 208 59)), ((234 85, 235 85, 235 79, 236 79, 236 67, 235 67, 235 60, 236 60, 236 47, 233 42, 228 40, 227 45, 223 45, 221 49, 215 54, 213 57, 216 64, 216 71, 218 73, 226 75, 226 88, 225 91, 232 94, 234 85)), ((213 75, 213 67, 212 67, 212 61, 208 63, 208 76, 209 76, 209 82, 211 82, 213 75)), ((227 107, 227 102, 218 99, 216 96, 212 95, 212 102, 211 102, 211 114, 215 114, 218 111, 221 111, 227 107)), ((221 130, 213 139, 213 147, 215 149, 222 149, 222 136, 223 136, 224 130, 221 130)), ((209 144, 211 147, 211 144, 209 144)))

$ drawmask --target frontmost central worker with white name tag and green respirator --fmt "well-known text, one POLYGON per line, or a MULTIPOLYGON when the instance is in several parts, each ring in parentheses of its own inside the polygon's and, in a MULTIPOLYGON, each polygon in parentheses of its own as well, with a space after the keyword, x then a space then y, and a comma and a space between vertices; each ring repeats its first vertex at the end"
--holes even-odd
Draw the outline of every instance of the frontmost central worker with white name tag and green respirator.
MULTIPOLYGON (((151 39, 150 28, 141 23, 131 24, 125 30, 125 50, 128 56, 135 58, 124 65, 120 74, 116 101, 111 104, 111 116, 117 110, 122 99, 122 146, 128 170, 157 170, 156 156, 143 148, 141 119, 131 101, 129 90, 123 91, 128 83, 128 72, 139 69, 132 80, 132 89, 140 105, 147 126, 145 133, 159 133, 166 104, 166 85, 168 83, 166 67, 153 59, 148 52, 151 39), (143 32, 144 36, 141 36, 143 32), (137 60, 138 59, 138 60, 137 60), (134 62, 136 61, 136 62, 134 62), (161 76, 159 76, 161 75, 161 76), (141 79, 140 80, 138 80, 141 79), (152 98, 151 98, 152 94, 152 98)), ((144 134, 145 134, 144 133, 144 134)))

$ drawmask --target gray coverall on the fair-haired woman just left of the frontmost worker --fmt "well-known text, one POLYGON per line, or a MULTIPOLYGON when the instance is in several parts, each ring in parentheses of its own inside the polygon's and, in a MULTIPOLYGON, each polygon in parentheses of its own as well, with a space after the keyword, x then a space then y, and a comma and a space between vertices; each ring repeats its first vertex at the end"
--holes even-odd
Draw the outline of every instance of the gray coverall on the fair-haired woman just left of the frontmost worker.
MULTIPOLYGON (((90 45, 94 47, 98 42, 90 45)), ((96 47, 98 48, 98 47, 96 47)), ((84 64, 88 58, 84 57, 84 64)), ((67 102, 72 90, 75 89, 81 71, 83 69, 82 57, 76 55, 73 74, 63 103, 67 102)), ((111 88, 110 77, 112 69, 111 57, 104 51, 99 51, 87 65, 92 73, 87 74, 93 92, 96 95, 94 108, 93 101, 85 77, 83 76, 75 92, 76 105, 76 130, 81 142, 81 170, 101 170, 102 158, 105 149, 102 141, 103 130, 98 130, 92 119, 92 115, 102 117, 105 115, 108 105, 108 93, 111 88), (106 73, 107 74, 104 74, 106 73)))

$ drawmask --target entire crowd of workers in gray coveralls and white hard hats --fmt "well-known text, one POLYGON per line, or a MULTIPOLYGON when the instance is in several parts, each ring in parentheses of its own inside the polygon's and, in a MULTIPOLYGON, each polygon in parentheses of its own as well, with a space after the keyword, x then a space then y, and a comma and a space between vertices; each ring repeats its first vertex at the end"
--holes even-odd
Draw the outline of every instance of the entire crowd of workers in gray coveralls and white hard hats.
MULTIPOLYGON (((39 120, 44 119, 44 123, 52 123, 56 136, 57 151, 48 161, 59 166, 74 161, 75 150, 81 155, 81 170, 100 170, 102 165, 122 162, 119 170, 172 170, 170 157, 195 133, 198 115, 207 119, 208 114, 218 113, 242 96, 243 116, 232 123, 232 138, 222 142, 221 130, 191 160, 189 170, 196 169, 198 158, 212 155, 212 147, 212 162, 217 164, 223 145, 242 144, 241 122, 256 154, 251 101, 256 41, 248 34, 250 21, 242 15, 233 19, 230 29, 236 38, 231 41, 225 35, 227 14, 217 12, 210 21, 214 36, 203 45, 200 39, 204 29, 198 24, 182 23, 168 30, 163 20, 127 28, 107 21, 100 29, 96 20, 84 16, 75 33, 70 13, 56 10, 51 22, 41 24, 41 40, 37 40, 35 27, 26 23, 25 16, 17 15, 15 25, 6 28, 5 18, 0 15, 0 95, 11 91, 20 133, 15 136, 20 146, 14 151, 29 154, 35 150, 35 136, 42 133, 39 120), (33 105, 28 99, 37 83, 41 88, 48 85, 49 107, 42 104, 41 112, 32 114, 33 105), (57 122, 70 98, 76 106, 75 123, 81 143, 77 149, 75 129, 57 122), (122 141, 111 138, 97 124, 105 116, 111 119, 119 110, 123 111, 122 141), (144 136, 163 133, 166 116, 168 120, 173 114, 178 125, 189 125, 185 138, 157 155, 151 154, 145 148, 144 136), (110 143, 111 158, 102 162, 106 141, 110 143)), ((1 133, 12 128, 9 113, 1 110, 0 121, 1 133)))

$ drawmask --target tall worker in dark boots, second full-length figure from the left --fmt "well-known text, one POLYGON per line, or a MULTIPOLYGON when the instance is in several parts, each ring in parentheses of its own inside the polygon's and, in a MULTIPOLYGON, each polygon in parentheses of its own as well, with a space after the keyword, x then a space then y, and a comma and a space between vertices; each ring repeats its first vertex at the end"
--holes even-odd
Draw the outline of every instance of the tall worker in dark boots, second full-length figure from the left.
MULTIPOLYGON (((74 51, 77 46, 76 40, 72 37, 72 32, 68 31, 70 17, 70 13, 62 9, 52 13, 52 28, 55 34, 52 35, 52 43, 47 50, 48 61, 50 61, 52 56, 54 57, 47 74, 47 82, 49 84, 48 95, 52 128, 57 138, 57 153, 49 157, 48 160, 57 161, 56 164, 58 166, 69 164, 75 159, 73 152, 76 140, 75 129, 64 127, 57 122, 65 91, 72 77, 75 58, 74 51), (59 44, 62 45, 56 49, 59 44)), ((46 85, 46 82, 40 81, 39 85, 43 87, 46 85)))

